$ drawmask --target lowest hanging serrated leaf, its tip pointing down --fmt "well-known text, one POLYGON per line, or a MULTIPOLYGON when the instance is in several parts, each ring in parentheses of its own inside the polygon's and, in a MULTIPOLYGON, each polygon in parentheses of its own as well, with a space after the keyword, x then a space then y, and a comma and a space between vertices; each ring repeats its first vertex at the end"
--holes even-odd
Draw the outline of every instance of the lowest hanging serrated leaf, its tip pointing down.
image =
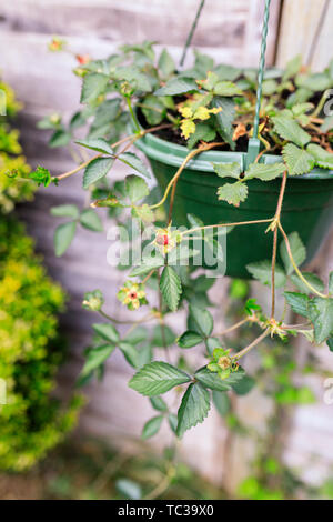
POLYGON ((199 382, 189 385, 178 411, 176 435, 204 421, 210 411, 210 394, 199 382))

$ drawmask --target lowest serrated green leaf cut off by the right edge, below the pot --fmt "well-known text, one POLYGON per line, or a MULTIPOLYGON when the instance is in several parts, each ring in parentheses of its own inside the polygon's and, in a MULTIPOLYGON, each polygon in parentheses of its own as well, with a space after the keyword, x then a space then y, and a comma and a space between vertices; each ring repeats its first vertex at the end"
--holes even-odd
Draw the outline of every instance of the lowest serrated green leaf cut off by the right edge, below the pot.
POLYGON ((310 320, 314 325, 314 339, 321 344, 333 333, 333 299, 311 299, 309 313, 310 320))

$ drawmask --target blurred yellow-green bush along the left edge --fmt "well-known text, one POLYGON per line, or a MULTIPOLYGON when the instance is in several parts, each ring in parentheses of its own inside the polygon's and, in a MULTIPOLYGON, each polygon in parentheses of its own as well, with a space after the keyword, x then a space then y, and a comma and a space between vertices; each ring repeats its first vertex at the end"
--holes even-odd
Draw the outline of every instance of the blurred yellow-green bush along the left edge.
POLYGON ((24 227, 7 215, 14 202, 32 198, 33 185, 23 181, 30 168, 8 124, 19 106, 1 82, 0 89, 8 103, 7 117, 0 117, 0 378, 7 395, 0 404, 0 469, 23 471, 73 428, 82 399, 62 408, 50 396, 64 359, 57 314, 65 294, 47 275, 24 227))

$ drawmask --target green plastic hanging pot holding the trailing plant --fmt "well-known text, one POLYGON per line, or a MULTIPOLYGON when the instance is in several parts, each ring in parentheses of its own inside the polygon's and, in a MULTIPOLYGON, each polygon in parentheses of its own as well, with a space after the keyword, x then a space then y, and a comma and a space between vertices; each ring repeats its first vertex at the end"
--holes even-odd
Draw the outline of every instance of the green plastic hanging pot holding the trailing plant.
MULTIPOLYGON (((162 191, 186 158, 185 147, 147 134, 137 147, 149 158, 162 191)), ((186 215, 198 215, 205 224, 255 221, 275 214, 281 180, 248 182, 249 197, 239 208, 219 201, 216 190, 222 184, 214 173, 212 162, 239 162, 244 169, 246 153, 203 152, 191 160, 182 172, 173 205, 172 222, 180 227, 188 223, 186 215)), ((279 155, 263 155, 261 162, 281 162, 279 155)), ((228 179, 223 180, 223 182, 228 179)), ((290 178, 282 210, 282 225, 286 233, 299 232, 307 250, 307 260, 317 252, 325 239, 333 217, 333 171, 314 169, 311 173, 290 178)), ((249 279, 246 264, 270 259, 272 234, 268 224, 235 227, 226 235, 226 275, 249 279)))

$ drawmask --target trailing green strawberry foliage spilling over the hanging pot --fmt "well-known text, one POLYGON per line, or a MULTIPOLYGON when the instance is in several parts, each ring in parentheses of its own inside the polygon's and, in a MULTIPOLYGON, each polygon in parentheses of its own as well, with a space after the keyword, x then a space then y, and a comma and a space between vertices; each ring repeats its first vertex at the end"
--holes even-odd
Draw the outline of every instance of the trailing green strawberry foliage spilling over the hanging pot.
MULTIPOLYGON (((128 332, 121 335, 115 328, 119 320, 109 317, 103 310, 102 293, 94 291, 85 295, 83 308, 99 312, 110 324, 94 324, 94 338, 84 353, 85 364, 80 383, 91 378, 101 379, 107 361, 119 350, 135 370, 130 388, 151 398, 153 409, 159 412, 145 424, 144 439, 159 433, 163 419, 174 433, 182 436, 186 430, 204 420, 212 398, 218 411, 223 412, 229 429, 244 433, 246 428, 232 411, 229 395, 235 393, 242 396, 249 393, 255 380, 239 367, 239 360, 254 348, 258 351, 266 348, 269 337, 278 339, 278 342, 287 342, 290 335, 303 335, 310 342, 326 341, 329 347, 333 337, 333 277, 326 294, 325 285, 315 274, 300 270, 306 261, 301 237, 291 233, 286 238, 282 228, 283 190, 285 182, 287 190, 287 178, 306 177, 314 167, 332 168, 332 137, 327 132, 331 127, 330 122, 324 121, 326 130, 321 128, 321 104, 317 104, 317 100, 323 99, 321 91, 333 87, 332 67, 323 73, 312 74, 310 71, 304 72, 296 58, 284 72, 275 69, 265 72, 259 139, 261 152, 280 154, 280 159, 270 162, 268 154, 261 153, 248 165, 245 155, 241 153, 244 153, 253 135, 256 71, 215 64, 210 57, 199 52, 194 52, 194 57, 191 69, 179 71, 167 50, 157 54, 153 42, 147 41, 123 46, 117 54, 105 59, 90 60, 77 70, 83 79, 83 109, 73 114, 69 124, 64 124, 57 114, 40 124, 52 130, 52 147, 67 143, 70 134, 77 145, 84 147, 85 153, 91 154, 90 160, 64 175, 81 175, 79 172, 84 169, 83 188, 89 191, 83 210, 71 204, 52 210, 54 215, 68 220, 56 231, 56 253, 61 255, 67 251, 79 225, 95 232, 102 230, 102 221, 95 213, 95 209, 100 208, 107 209, 108 215, 130 232, 133 244, 142 240, 143 253, 140 258, 133 247, 130 259, 119 264, 121 270, 128 270, 132 279, 124 278, 117 295, 131 311, 141 307, 148 307, 149 311, 133 321, 128 332), (85 135, 80 132, 82 138, 78 141, 75 129, 84 126, 89 130, 85 135), (129 152, 137 140, 147 137, 144 139, 149 142, 150 133, 186 147, 189 151, 164 194, 160 193, 159 188, 151 190, 150 182, 144 180, 150 178, 145 162, 129 152), (183 169, 199 152, 218 145, 223 151, 236 151, 239 161, 213 163, 223 184, 218 190, 218 197, 212 194, 215 198, 212 204, 219 204, 218 198, 240 208, 251 188, 261 182, 274 182, 274 187, 281 184, 283 189, 280 199, 276 194, 275 215, 264 215, 263 209, 259 209, 259 215, 262 217, 259 221, 261 224, 266 223, 266 234, 274 240, 273 257, 272 252, 268 252, 266 260, 248 267, 253 279, 264 285, 273 284, 274 289, 270 292, 272 314, 255 299, 249 299, 248 283, 234 283, 231 307, 235 302, 244 302, 236 323, 226 328, 224 333, 219 333, 209 310, 216 292, 212 289, 214 280, 196 272, 199 268, 205 269, 205 262, 198 263, 200 251, 196 244, 203 245, 205 253, 213 252, 215 259, 223 262, 225 253, 218 239, 226 230, 232 233, 235 223, 224 227, 223 212, 221 222, 214 224, 204 223, 190 214, 190 230, 181 229, 186 223, 178 223, 179 228, 173 229, 173 207, 178 204, 174 195, 180 188, 180 175, 186 175, 183 169), (125 165, 128 173, 124 180, 113 182, 108 174, 118 161, 125 165), (279 178, 283 180, 282 183, 279 178), (90 193, 91 201, 88 201, 90 193), (169 207, 170 215, 165 215, 164 203, 169 207), (133 221, 135 231, 130 230, 133 221), (285 324, 285 313, 280 315, 280 307, 275 305, 282 294, 275 292, 279 288, 284 288, 286 305, 305 317, 305 327, 285 324), (286 289, 291 291, 285 292, 286 289), (158 299, 152 295, 150 300, 153 292, 158 293, 158 299), (173 332, 168 325, 168 317, 178 310, 186 314, 186 325, 173 332), (152 321, 154 323, 150 325, 152 321), (250 325, 258 337, 253 341, 252 335, 249 335, 244 348, 233 342, 232 338, 224 339, 230 331, 242 331, 250 325), (169 349, 173 365, 157 360, 157 352, 158 358, 163 359, 161 351, 169 354, 169 349), (193 368, 195 358, 186 352, 190 349, 196 353, 201 351, 204 357, 201 368, 193 368), (175 415, 160 395, 174 388, 180 391, 179 387, 182 387, 182 399, 175 415)), ((44 174, 43 179, 42 172, 38 171, 34 174, 37 181, 43 184, 56 181, 44 174)), ((221 204, 222 210, 223 207, 221 204)), ((234 209, 234 212, 238 211, 234 209)), ((240 219, 235 221, 240 221, 236 225, 243 224, 240 219)), ((251 223, 255 224, 259 223, 251 223)), ((280 352, 276 357, 268 352, 262 360, 263 373, 268 369, 275 372, 275 362, 280 361, 280 352)), ((279 404, 310 401, 307 389, 293 385, 290 377, 293 361, 283 357, 281 361, 286 361, 285 368, 280 373, 272 372, 271 396, 279 404)), ((261 377, 260 372, 256 373, 261 377)), ((272 493, 268 489, 262 492, 260 488, 261 483, 254 496, 272 493)), ((276 491, 273 495, 278 495, 276 491)))

